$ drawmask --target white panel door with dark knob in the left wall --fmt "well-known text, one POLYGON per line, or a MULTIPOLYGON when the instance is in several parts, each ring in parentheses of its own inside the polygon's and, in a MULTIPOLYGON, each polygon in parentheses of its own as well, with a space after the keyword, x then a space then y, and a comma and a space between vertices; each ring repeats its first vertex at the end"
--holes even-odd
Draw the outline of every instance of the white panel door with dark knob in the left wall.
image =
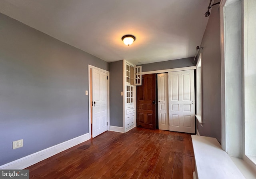
POLYGON ((92 69, 92 137, 108 130, 108 74, 92 69))

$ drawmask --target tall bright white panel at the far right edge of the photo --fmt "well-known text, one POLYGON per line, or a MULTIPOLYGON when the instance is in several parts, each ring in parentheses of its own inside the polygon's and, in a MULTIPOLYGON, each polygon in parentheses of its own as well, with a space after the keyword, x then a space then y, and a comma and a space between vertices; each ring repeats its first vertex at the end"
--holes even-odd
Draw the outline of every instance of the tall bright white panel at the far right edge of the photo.
POLYGON ((245 153, 256 155, 256 2, 244 0, 245 153))

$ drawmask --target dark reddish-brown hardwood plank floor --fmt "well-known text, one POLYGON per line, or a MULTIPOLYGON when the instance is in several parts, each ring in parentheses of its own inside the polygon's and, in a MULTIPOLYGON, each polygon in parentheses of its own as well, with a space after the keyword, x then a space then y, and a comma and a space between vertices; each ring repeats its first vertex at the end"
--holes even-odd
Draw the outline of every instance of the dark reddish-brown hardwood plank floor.
POLYGON ((192 179, 191 136, 135 127, 106 131, 28 167, 30 179, 192 179))

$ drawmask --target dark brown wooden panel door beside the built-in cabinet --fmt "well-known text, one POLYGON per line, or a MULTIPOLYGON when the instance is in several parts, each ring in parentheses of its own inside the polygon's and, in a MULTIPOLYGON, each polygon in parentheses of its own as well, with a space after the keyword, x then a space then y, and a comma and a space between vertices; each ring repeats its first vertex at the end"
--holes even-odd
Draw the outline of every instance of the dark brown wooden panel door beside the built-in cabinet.
POLYGON ((156 129, 156 74, 142 75, 137 86, 137 127, 156 129))

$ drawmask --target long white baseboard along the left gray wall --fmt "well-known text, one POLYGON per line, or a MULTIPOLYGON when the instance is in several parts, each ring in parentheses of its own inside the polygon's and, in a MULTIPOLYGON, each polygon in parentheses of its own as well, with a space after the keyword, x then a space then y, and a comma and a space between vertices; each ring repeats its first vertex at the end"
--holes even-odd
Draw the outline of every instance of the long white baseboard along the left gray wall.
POLYGON ((69 149, 70 147, 74 147, 75 145, 78 145, 79 143, 82 143, 89 139, 90 139, 89 133, 80 135, 74 139, 70 139, 68 141, 59 143, 47 149, 38 151, 36 153, 32 153, 31 155, 28 155, 26 157, 22 157, 10 163, 6 163, 0 166, 0 169, 24 169, 26 167, 34 165, 35 163, 38 163, 44 159, 47 159, 53 155, 56 155, 57 153, 60 153, 66 149, 69 149))

